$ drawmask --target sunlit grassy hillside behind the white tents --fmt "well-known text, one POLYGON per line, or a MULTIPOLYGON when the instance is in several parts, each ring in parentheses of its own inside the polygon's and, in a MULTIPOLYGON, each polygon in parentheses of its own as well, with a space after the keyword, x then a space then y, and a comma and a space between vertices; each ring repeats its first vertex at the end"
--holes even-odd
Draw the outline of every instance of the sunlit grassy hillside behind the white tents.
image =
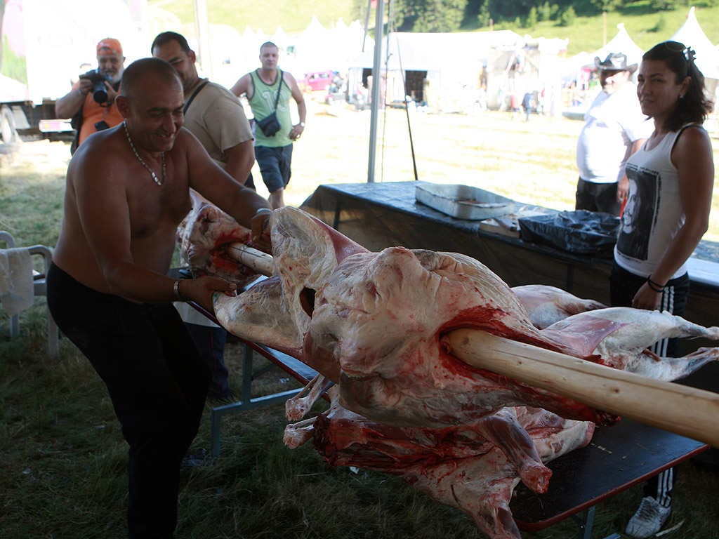
MULTIPOLYGON (((331 27, 339 17, 348 24, 353 19, 359 18, 353 0, 273 0, 272 3, 248 0, 229 3, 225 0, 206 0, 206 2, 211 24, 228 24, 240 33, 249 25, 255 31, 257 28, 262 28, 266 34, 272 34, 278 24, 288 34, 301 32, 307 27, 313 15, 316 15, 326 28, 331 27)), ((617 24, 623 22, 634 42, 644 50, 648 50, 652 45, 669 39, 684 24, 689 12, 689 7, 678 11, 654 11, 647 4, 648 0, 638 1, 621 12, 608 13, 606 39, 611 40, 617 32, 617 24)), ((193 22, 192 0, 150 0, 150 6, 170 11, 183 23, 193 22)), ((705 34, 716 45, 719 40, 719 6, 697 6, 696 14, 705 34)), ((475 22, 466 23, 464 30, 477 29, 475 22)), ((588 52, 597 50, 604 45, 601 15, 577 17, 571 27, 560 27, 551 21, 539 22, 532 28, 518 28, 514 24, 506 23, 495 28, 498 27, 514 30, 518 34, 531 34, 533 37, 569 38, 568 55, 577 54, 582 50, 588 52)))

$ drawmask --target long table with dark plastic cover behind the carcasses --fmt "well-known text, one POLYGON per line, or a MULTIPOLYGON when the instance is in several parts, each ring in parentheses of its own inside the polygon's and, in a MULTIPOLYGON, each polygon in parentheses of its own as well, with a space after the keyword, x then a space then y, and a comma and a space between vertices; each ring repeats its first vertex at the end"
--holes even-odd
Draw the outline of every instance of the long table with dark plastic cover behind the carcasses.
MULTIPOLYGON (((479 221, 454 218, 417 202, 416 185, 424 183, 320 185, 301 209, 371 251, 402 246, 467 254, 510 286, 550 285, 609 305, 611 257, 573 254, 484 231, 479 221)), ((516 203, 517 209, 522 206, 516 203)), ((695 255, 699 257, 688 262, 691 289, 684 318, 702 326, 719 326, 719 244, 702 241, 695 255)), ((682 355, 715 345, 697 340, 690 346, 688 351, 682 349, 682 355)), ((719 391, 719 383, 715 390, 719 391)))

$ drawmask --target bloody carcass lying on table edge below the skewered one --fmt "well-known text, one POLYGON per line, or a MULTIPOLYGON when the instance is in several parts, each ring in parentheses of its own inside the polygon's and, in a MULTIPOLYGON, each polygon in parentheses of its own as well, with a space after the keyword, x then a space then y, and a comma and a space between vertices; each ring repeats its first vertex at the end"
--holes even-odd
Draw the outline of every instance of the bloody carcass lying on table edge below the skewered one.
POLYGON ((336 403, 285 429, 292 448, 311 439, 331 466, 357 466, 400 476, 412 487, 466 513, 493 539, 520 538, 509 508, 523 482, 546 492, 544 463, 590 442, 595 425, 541 408, 507 407, 475 423, 446 428, 395 427, 336 403))

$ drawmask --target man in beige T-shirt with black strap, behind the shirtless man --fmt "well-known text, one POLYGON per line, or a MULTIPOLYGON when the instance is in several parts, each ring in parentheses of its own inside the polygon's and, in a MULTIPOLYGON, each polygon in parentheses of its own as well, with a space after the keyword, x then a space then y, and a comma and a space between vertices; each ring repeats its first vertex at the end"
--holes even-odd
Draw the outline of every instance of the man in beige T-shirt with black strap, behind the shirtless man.
MULTIPOLYGON (((242 103, 224 86, 200 78, 195 52, 183 35, 162 32, 155 37, 151 50, 152 56, 172 65, 182 80, 185 93, 183 126, 237 183, 254 188, 248 183, 252 181, 249 171, 255 164, 255 149, 242 103)), ((177 303, 175 307, 212 372, 207 396, 211 400, 230 399, 232 391, 224 363, 227 332, 187 303, 177 303)))

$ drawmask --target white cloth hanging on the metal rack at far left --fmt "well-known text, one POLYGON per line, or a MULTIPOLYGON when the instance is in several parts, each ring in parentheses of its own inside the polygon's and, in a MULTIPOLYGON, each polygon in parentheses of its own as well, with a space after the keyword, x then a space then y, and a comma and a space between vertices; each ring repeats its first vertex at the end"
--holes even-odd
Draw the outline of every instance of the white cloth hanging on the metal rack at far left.
POLYGON ((16 315, 35 302, 32 260, 28 249, 0 249, 0 303, 16 315))

